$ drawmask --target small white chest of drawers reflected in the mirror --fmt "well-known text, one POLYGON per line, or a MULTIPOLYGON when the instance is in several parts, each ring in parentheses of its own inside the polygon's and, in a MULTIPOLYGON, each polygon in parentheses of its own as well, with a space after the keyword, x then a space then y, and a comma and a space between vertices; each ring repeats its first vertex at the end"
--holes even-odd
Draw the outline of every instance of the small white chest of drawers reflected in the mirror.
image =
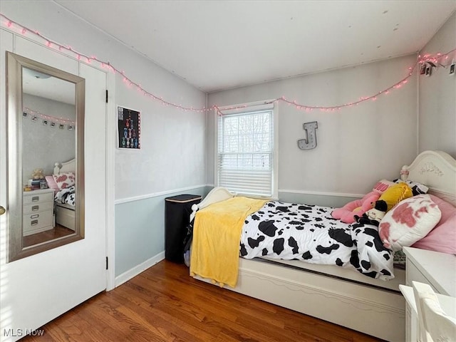
POLYGON ((25 191, 22 195, 23 236, 53 229, 54 190, 25 191))

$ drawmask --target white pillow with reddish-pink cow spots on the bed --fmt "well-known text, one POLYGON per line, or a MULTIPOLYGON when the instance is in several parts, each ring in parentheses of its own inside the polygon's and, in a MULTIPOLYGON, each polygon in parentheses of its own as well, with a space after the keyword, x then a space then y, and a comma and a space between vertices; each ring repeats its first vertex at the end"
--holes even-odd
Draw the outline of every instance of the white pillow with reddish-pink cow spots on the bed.
POLYGON ((385 214, 378 226, 383 246, 393 251, 423 239, 440 221, 442 213, 429 195, 404 199, 385 214))

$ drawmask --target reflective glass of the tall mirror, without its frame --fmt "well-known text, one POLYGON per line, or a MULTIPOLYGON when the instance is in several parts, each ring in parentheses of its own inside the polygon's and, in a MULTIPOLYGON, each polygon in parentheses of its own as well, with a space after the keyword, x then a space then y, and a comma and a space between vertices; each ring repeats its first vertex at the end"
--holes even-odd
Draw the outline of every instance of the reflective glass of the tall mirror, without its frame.
POLYGON ((22 232, 29 247, 75 232, 75 85, 23 67, 22 105, 22 232))

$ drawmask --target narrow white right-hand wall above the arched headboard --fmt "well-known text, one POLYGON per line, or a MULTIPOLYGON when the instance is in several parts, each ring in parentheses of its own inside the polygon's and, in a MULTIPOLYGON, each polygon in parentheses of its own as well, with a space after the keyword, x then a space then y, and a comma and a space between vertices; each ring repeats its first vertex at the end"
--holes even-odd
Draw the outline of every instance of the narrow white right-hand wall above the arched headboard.
MULTIPOLYGON (((456 48, 456 13, 420 51, 421 56, 447 53, 456 48)), ((442 64, 456 61, 456 51, 442 64)), ((456 74, 450 68, 433 68, 431 76, 420 76, 419 152, 442 150, 456 158, 456 74)))

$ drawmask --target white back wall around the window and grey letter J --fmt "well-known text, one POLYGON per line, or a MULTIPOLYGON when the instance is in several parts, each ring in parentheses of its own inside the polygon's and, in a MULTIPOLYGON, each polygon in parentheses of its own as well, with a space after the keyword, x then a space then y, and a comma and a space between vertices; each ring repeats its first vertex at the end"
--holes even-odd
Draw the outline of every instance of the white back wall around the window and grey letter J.
MULTIPOLYGON (((208 96, 208 105, 280 98, 302 105, 351 103, 405 78, 416 56, 259 84, 208 96)), ((398 177, 417 152, 416 73, 400 89, 333 113, 306 113, 279 103, 279 197, 286 192, 365 194, 382 178, 398 177), (318 145, 300 150, 303 123, 317 121, 318 145)), ((207 115, 207 181, 214 182, 214 114, 207 115)))

